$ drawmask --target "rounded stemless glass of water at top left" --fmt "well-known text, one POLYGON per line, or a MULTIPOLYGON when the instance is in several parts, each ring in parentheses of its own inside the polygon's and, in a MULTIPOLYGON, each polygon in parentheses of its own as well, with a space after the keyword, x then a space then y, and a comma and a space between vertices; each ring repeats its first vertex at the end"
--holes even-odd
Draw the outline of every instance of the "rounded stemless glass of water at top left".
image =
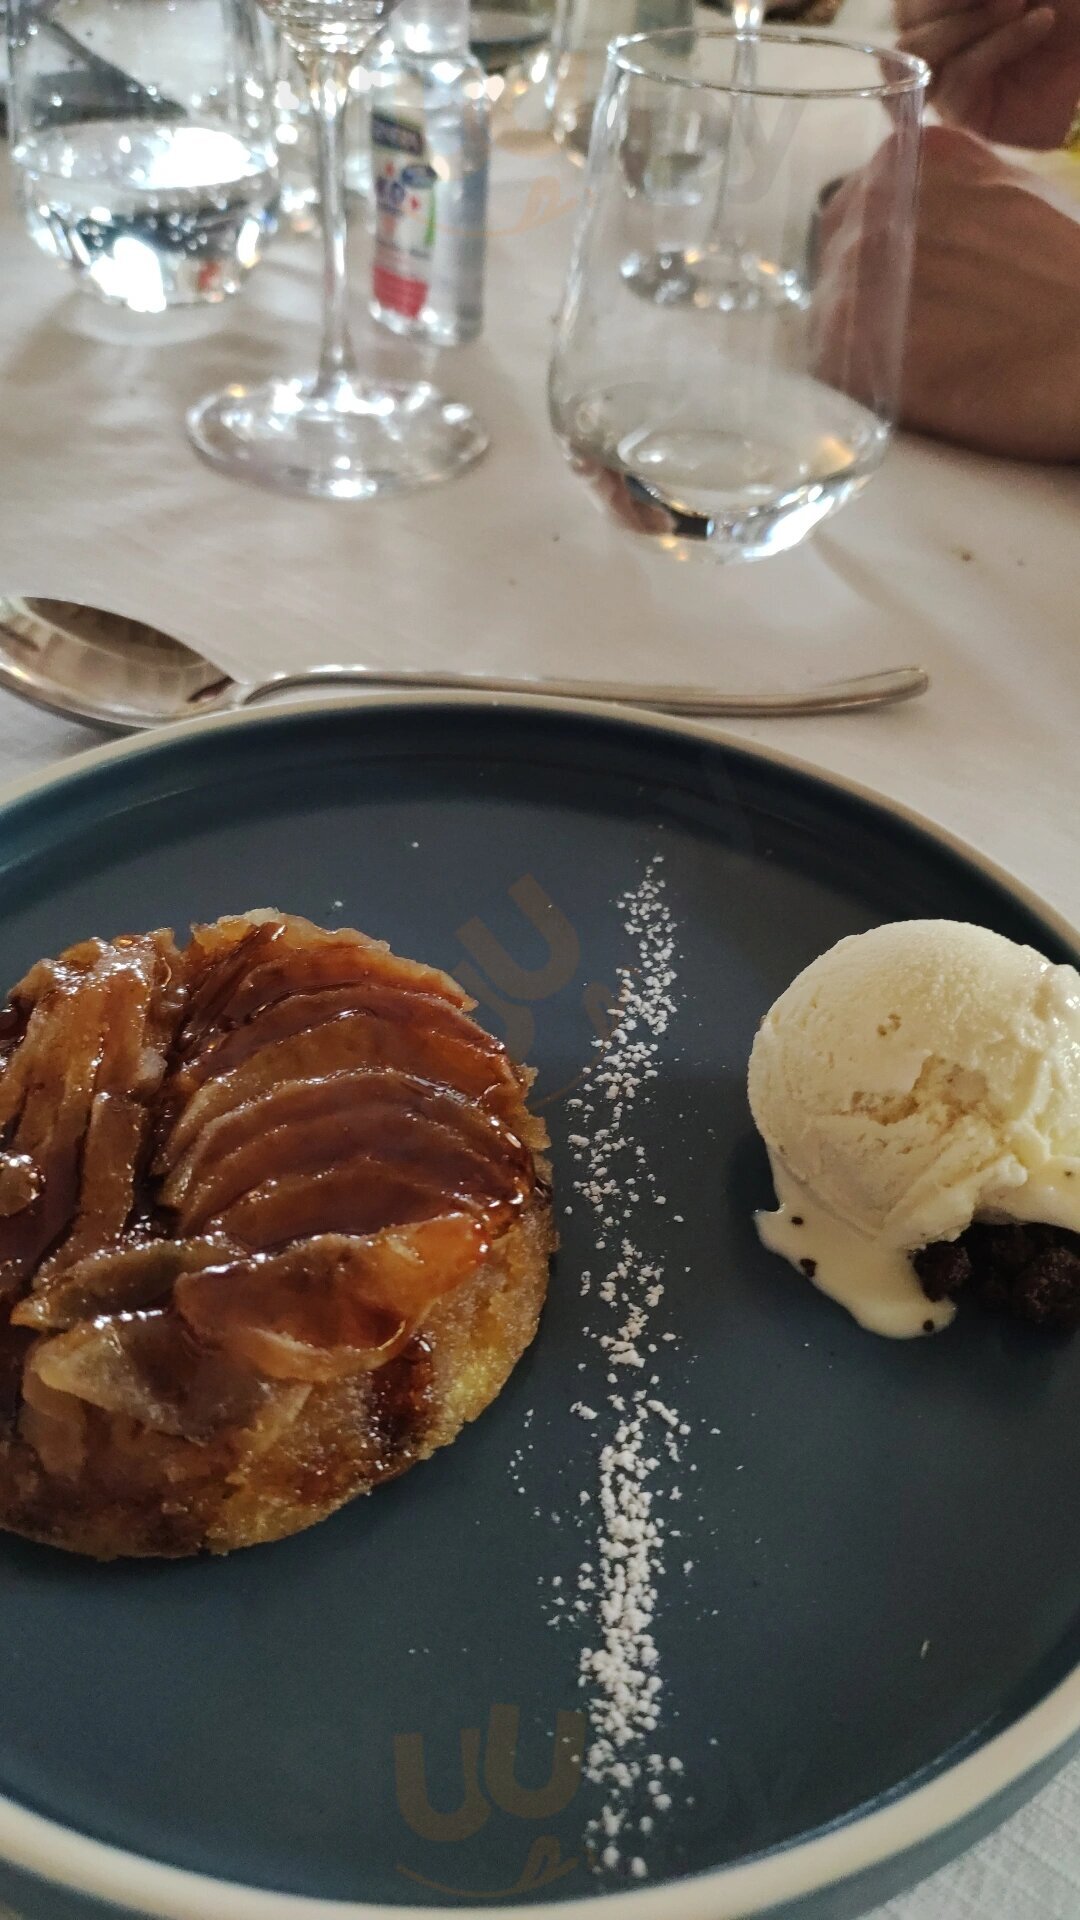
POLYGON ((236 292, 279 205, 252 0, 10 0, 8 40, 37 244, 136 313, 236 292))

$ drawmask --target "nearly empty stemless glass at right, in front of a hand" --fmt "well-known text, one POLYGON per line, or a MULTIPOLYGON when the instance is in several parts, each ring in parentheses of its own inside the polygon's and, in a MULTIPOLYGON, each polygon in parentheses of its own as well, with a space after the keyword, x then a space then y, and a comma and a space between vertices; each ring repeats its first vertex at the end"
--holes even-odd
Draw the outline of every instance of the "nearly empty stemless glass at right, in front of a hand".
POLYGON ((753 88, 730 31, 611 50, 555 332, 573 470, 680 557, 796 545, 867 484, 899 397, 926 67, 803 33, 753 44, 753 88), (769 300, 640 298, 642 259, 717 234, 767 265, 769 300))

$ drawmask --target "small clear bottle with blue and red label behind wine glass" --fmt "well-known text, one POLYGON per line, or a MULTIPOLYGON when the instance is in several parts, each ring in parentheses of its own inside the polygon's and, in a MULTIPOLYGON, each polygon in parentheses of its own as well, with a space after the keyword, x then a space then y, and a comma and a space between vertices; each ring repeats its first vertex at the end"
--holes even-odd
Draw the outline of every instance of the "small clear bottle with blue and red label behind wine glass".
POLYGON ((484 315, 490 108, 467 0, 400 0, 369 63, 371 311, 432 346, 484 315))

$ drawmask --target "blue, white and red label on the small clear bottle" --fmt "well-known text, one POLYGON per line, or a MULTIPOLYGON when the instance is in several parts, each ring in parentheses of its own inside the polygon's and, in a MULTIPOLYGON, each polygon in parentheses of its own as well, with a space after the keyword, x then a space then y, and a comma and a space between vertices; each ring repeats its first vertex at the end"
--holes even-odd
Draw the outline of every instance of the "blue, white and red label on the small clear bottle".
POLYGON ((373 292, 380 307, 415 321, 427 305, 434 253, 434 182, 423 127, 371 115, 375 184, 373 292))

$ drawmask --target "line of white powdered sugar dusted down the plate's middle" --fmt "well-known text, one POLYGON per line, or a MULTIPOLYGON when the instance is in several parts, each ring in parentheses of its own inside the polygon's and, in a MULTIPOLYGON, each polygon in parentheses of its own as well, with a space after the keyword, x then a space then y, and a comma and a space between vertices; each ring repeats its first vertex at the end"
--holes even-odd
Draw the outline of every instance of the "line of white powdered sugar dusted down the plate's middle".
POLYGON ((661 1398, 655 1356, 669 1356, 676 1342, 667 1332, 661 1348, 650 1331, 663 1300, 663 1267, 640 1244, 651 1238, 642 1233, 648 1210, 667 1206, 638 1137, 661 1039, 676 1012, 676 929, 661 866, 657 854, 617 902, 630 960, 619 970, 615 1027, 596 1043, 596 1058, 567 1102, 573 1212, 588 1210, 598 1254, 580 1290, 590 1298, 584 1332, 603 1394, 592 1386, 588 1400, 573 1404, 596 1438, 596 1478, 578 1496, 592 1544, 577 1571, 573 1605, 563 1582, 553 1594, 553 1624, 575 1620, 586 1632, 578 1661, 590 1724, 584 1774, 603 1789, 590 1853, 600 1868, 634 1880, 648 1874, 644 1843, 671 1807, 667 1776, 682 1772, 678 1759, 655 1751, 663 1676, 653 1624, 665 1544, 680 1538, 663 1515, 667 1501, 680 1498, 667 1463, 678 1463, 690 1427, 667 1390, 661 1398))

